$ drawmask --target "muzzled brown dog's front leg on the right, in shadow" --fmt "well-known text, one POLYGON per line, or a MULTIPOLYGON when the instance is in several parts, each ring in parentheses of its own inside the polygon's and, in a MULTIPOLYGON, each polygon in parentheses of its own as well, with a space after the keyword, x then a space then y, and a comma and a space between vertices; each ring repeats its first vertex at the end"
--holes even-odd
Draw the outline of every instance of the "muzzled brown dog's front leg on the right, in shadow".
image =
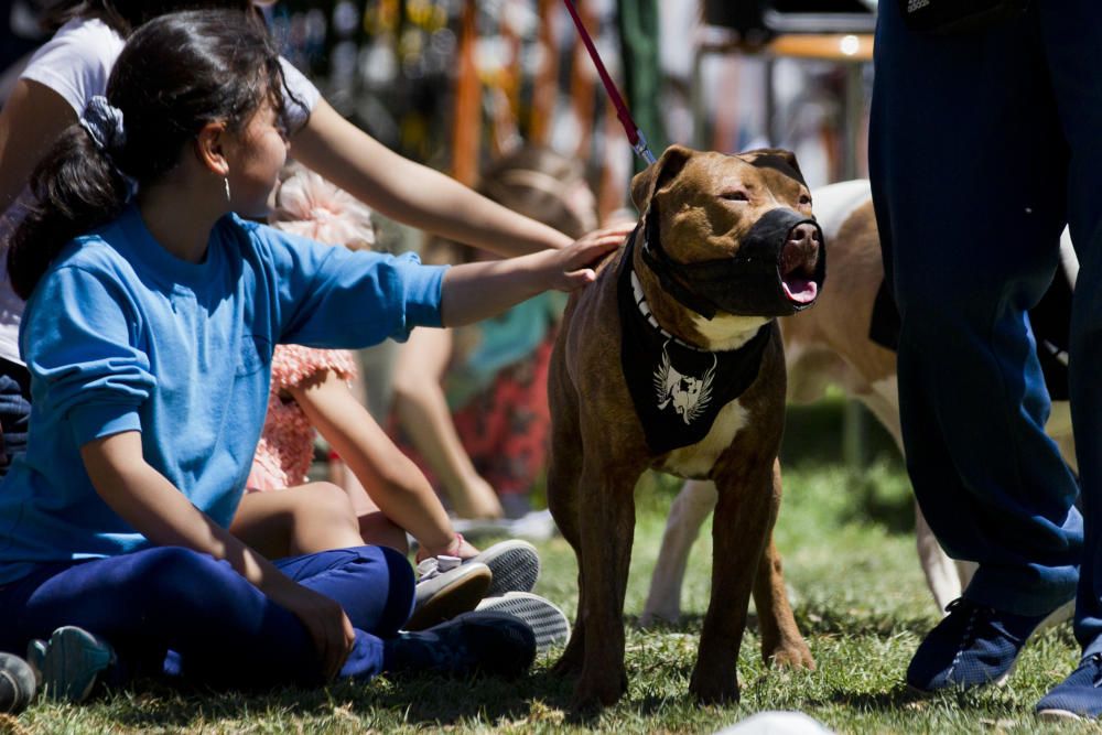
POLYGON ((738 649, 746 610, 779 497, 771 461, 716 477, 712 518, 712 599, 700 636, 689 691, 703 702, 738 701, 738 649))

